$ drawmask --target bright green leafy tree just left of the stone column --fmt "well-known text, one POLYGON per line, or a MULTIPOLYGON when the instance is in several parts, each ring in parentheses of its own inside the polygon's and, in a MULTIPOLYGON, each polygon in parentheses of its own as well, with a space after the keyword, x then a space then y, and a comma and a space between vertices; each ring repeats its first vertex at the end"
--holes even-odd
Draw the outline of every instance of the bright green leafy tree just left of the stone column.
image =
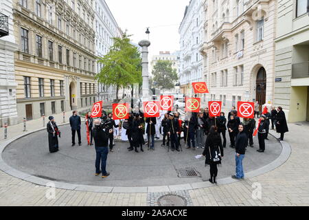
POLYGON ((116 88, 116 99, 119 89, 130 88, 133 83, 141 83, 141 54, 137 47, 130 43, 126 33, 121 38, 113 38, 114 44, 108 54, 98 58, 103 67, 95 76, 99 83, 116 88))

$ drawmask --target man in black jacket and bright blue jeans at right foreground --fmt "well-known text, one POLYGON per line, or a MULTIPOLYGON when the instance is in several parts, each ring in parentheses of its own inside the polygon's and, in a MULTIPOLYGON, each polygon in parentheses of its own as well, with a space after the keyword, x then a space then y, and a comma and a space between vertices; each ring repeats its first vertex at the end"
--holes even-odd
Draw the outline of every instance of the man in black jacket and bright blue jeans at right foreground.
POLYGON ((244 125, 240 124, 238 126, 238 135, 236 137, 236 175, 232 175, 233 179, 244 179, 244 168, 242 167, 242 160, 244 159, 244 154, 246 153, 246 146, 248 144, 248 137, 244 133, 244 125))

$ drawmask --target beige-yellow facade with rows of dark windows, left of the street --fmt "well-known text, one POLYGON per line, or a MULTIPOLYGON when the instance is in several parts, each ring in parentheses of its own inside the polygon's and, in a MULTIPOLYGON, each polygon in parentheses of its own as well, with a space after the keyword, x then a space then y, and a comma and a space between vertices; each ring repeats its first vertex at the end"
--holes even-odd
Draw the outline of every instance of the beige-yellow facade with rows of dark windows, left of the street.
POLYGON ((19 122, 96 100, 94 1, 14 0, 19 122))

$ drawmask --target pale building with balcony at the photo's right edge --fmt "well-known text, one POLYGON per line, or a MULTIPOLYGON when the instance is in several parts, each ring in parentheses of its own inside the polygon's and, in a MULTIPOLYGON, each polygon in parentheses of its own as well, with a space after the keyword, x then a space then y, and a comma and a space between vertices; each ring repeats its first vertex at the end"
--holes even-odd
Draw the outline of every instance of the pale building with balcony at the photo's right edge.
POLYGON ((309 121, 309 1, 278 5, 275 39, 275 105, 288 122, 309 121))

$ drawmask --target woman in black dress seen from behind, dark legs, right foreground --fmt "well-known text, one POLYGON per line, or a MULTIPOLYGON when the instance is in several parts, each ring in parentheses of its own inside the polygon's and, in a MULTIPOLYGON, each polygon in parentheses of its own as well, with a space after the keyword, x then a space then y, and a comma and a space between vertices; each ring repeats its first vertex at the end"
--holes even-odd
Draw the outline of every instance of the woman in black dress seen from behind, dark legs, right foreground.
POLYGON ((220 134, 216 131, 215 126, 209 129, 209 135, 205 142, 205 149, 203 152, 205 156, 205 164, 210 166, 210 179, 211 184, 216 184, 216 177, 218 175, 217 164, 221 164, 223 155, 222 140, 220 134))

